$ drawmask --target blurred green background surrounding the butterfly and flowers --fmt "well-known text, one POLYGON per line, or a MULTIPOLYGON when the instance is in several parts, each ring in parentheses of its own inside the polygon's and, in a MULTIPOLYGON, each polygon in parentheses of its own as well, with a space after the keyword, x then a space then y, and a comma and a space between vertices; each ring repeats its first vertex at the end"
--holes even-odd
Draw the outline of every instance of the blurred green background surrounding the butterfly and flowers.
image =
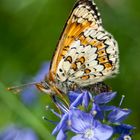
MULTIPOLYGON (((0 129, 9 124, 32 128, 39 139, 53 139, 54 125, 42 120, 48 115, 47 95, 39 94, 32 106, 6 87, 26 83, 43 62, 51 60, 74 0, 0 0, 0 129)), ((122 107, 132 109, 126 123, 136 126, 140 139, 140 1, 96 0, 106 30, 119 43, 120 73, 107 80, 114 91, 126 95, 122 107)), ((51 119, 52 116, 49 115, 51 119)))

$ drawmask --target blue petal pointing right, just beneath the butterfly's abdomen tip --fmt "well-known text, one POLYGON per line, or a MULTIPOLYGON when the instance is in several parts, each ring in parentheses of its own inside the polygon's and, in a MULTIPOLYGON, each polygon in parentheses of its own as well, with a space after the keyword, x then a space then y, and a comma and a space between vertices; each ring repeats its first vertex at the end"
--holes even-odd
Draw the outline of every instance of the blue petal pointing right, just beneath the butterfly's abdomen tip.
POLYGON ((116 92, 103 92, 94 97, 96 104, 105 104, 110 102, 116 96, 116 92))

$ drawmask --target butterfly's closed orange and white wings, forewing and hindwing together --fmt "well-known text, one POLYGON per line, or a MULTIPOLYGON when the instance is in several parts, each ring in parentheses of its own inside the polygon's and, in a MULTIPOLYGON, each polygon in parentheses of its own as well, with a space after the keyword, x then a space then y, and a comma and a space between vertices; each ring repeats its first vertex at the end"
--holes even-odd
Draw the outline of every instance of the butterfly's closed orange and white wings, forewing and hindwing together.
POLYGON ((118 71, 118 45, 104 30, 92 0, 79 0, 55 51, 49 80, 80 87, 103 81, 118 71))

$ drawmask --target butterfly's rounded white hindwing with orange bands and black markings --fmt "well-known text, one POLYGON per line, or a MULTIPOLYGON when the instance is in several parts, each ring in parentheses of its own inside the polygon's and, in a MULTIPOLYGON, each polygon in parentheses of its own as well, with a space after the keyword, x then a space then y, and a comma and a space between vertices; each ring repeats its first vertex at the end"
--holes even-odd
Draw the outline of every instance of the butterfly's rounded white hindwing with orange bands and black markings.
POLYGON ((80 38, 74 41, 60 61, 57 70, 60 81, 68 79, 87 86, 117 73, 117 43, 108 32, 96 31, 94 39, 88 39, 87 44, 81 42, 80 38))

